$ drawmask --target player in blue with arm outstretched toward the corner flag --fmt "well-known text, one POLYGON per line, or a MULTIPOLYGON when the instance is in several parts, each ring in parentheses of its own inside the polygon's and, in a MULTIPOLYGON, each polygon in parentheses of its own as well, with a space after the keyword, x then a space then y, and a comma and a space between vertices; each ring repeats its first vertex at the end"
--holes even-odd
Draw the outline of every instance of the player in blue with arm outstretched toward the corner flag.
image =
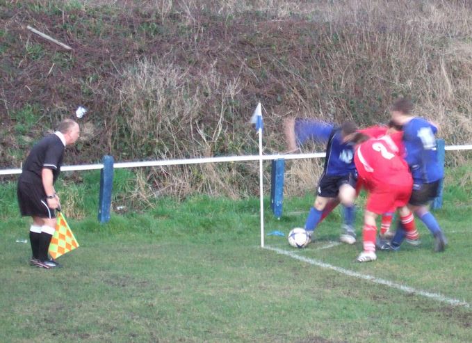
POLYGON ((354 244, 356 234, 355 205, 357 171, 354 164, 354 145, 350 143, 356 134, 353 122, 344 122, 341 127, 300 118, 290 118, 285 123, 285 135, 289 150, 296 150, 306 141, 327 143, 325 168, 318 182, 316 200, 311 207, 304 228, 312 236, 323 216, 323 210, 334 198, 344 206, 344 225, 340 240, 354 244))

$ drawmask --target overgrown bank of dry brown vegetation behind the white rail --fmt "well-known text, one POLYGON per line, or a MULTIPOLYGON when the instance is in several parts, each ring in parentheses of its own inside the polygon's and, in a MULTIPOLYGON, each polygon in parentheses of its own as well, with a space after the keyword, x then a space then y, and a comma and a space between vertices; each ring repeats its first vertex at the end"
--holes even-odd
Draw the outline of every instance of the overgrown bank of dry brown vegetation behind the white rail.
MULTIPOLYGON (((371 125, 400 95, 446 144, 471 143, 471 18, 459 0, 0 0, 0 163, 19 166, 79 104, 92 134, 70 164, 256 154, 257 102, 266 153, 285 149, 289 115, 371 125)), ((291 163, 288 193, 313 187, 314 163, 291 163)), ((258 189, 255 163, 149 170, 149 196, 144 181, 179 197, 258 189)))

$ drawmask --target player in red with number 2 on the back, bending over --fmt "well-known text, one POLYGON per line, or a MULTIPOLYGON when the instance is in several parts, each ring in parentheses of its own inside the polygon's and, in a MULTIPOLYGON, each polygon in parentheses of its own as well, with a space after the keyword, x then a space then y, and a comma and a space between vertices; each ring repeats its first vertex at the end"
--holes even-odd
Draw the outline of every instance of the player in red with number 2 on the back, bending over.
POLYGON ((354 161, 359 180, 368 191, 362 232, 364 251, 357 257, 357 262, 369 262, 377 260, 375 220, 379 214, 398 208, 405 230, 410 234, 416 232, 412 212, 407 207, 413 179, 407 163, 398 156, 398 147, 391 136, 368 139, 359 134, 357 142, 354 161))

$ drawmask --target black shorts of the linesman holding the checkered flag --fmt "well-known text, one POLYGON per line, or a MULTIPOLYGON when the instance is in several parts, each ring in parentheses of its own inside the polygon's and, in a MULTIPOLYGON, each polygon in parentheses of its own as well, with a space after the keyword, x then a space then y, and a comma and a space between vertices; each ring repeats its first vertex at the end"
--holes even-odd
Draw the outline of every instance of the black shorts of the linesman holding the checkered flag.
POLYGON ((38 216, 40 218, 56 218, 54 209, 47 207, 46 193, 42 184, 30 184, 18 181, 17 196, 19 212, 22 216, 38 216))

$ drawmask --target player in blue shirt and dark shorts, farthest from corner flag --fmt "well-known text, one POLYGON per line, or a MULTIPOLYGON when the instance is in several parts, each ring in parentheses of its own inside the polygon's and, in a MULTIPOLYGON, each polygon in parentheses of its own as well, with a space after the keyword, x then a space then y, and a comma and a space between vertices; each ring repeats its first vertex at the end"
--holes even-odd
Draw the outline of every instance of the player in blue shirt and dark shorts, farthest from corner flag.
MULTIPOLYGON (((434 251, 446 248, 446 237, 436 218, 428 209, 428 204, 437 197, 444 176, 444 169, 437 157, 437 127, 428 120, 412 115, 413 104, 409 99, 398 99, 391 107, 391 118, 403 127, 405 161, 413 177, 413 192, 409 208, 420 218, 433 234, 434 251)), ((405 238, 405 230, 400 225, 395 237, 387 248, 397 249, 405 238)))

